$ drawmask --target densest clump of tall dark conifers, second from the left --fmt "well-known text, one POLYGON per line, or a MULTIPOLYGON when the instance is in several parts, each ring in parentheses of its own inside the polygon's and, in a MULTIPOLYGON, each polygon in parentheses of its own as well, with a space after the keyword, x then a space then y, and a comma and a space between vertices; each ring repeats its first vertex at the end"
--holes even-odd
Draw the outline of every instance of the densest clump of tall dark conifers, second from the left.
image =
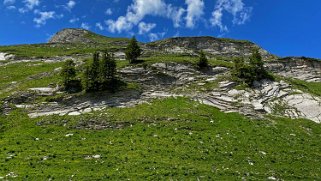
POLYGON ((87 92, 102 90, 114 92, 118 87, 114 57, 107 52, 102 57, 100 60, 99 53, 95 53, 92 63, 85 68, 83 82, 87 92))

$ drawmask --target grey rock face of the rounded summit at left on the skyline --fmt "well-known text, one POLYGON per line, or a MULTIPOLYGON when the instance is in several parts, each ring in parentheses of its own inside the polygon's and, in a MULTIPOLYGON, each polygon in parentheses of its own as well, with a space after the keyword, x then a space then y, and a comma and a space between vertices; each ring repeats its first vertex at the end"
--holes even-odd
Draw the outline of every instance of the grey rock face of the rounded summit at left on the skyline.
POLYGON ((86 38, 89 33, 84 29, 63 29, 56 33, 48 43, 94 43, 86 38))

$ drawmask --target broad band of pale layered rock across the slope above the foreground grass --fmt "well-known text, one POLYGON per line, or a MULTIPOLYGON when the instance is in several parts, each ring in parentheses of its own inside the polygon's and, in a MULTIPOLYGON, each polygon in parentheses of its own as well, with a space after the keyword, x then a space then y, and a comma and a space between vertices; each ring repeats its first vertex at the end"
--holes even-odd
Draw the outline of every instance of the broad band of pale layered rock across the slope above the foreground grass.
MULTIPOLYGON (((272 114, 321 123, 321 98, 295 89, 284 81, 263 80, 256 82, 254 88, 238 90, 236 82, 222 79, 229 74, 227 68, 214 67, 203 72, 190 64, 178 63, 126 67, 119 74, 126 82, 139 84, 140 91, 114 95, 98 93, 43 105, 21 104, 20 101, 17 107, 29 109, 32 118, 53 114, 77 116, 107 107, 131 107, 155 98, 184 96, 224 112, 238 112, 256 119, 272 114)), ((44 92, 46 94, 41 95, 46 96, 52 89, 32 90, 38 94, 44 92)))

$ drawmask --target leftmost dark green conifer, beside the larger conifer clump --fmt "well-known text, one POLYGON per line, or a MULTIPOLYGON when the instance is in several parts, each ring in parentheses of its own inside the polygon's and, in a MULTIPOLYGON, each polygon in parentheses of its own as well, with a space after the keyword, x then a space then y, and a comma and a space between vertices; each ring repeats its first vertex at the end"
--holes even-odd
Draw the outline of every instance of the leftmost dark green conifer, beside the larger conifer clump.
POLYGON ((67 92, 79 92, 82 90, 81 81, 77 79, 75 63, 67 60, 60 73, 63 89, 67 92))

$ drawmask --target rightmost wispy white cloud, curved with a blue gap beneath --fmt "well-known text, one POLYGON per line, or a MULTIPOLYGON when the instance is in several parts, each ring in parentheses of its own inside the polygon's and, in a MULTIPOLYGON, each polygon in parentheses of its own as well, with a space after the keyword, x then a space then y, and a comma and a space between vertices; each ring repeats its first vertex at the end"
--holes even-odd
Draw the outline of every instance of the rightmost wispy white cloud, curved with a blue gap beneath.
POLYGON ((224 12, 233 16, 234 25, 242 25, 250 19, 252 8, 246 7, 243 0, 218 0, 210 21, 212 26, 218 27, 221 32, 228 31, 227 26, 223 24, 224 12))

